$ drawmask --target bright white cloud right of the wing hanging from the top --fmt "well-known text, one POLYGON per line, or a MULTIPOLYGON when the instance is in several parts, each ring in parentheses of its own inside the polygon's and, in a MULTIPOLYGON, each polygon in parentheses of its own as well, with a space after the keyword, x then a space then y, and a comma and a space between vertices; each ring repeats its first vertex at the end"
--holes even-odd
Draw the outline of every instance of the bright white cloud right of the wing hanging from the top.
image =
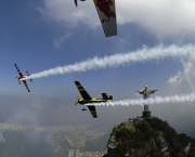
POLYGON ((194 0, 116 0, 118 23, 135 23, 159 39, 195 32, 194 0))

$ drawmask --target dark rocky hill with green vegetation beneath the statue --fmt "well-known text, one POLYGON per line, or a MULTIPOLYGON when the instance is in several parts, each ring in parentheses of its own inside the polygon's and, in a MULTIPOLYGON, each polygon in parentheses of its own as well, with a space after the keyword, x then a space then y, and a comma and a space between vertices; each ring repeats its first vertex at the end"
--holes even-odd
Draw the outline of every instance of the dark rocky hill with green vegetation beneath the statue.
POLYGON ((158 118, 133 118, 113 129, 104 157, 195 157, 195 140, 158 118), (190 145, 191 144, 191 145, 190 145), (187 152, 186 152, 187 149, 187 152))

